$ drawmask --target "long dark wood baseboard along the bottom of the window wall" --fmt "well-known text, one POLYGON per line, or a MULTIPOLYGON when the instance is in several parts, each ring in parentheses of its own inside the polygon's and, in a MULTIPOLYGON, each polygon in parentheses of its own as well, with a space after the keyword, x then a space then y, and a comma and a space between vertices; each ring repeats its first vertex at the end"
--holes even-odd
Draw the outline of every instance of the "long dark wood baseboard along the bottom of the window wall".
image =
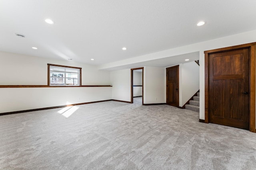
POLYGON ((39 108, 39 109, 28 109, 28 110, 20 110, 20 111, 10 111, 10 112, 5 112, 5 113, 0 113, 0 116, 2 116, 2 115, 11 115, 11 114, 16 114, 16 113, 25 113, 25 112, 30 112, 30 111, 56 109, 56 108, 61 108, 61 107, 76 106, 76 105, 82 105, 82 104, 92 104, 92 103, 99 103, 99 102, 108 102, 108 101, 112 101, 112 100, 100 100, 100 101, 95 101, 95 102, 68 104, 68 105, 53 106, 53 107, 43 107, 43 108, 39 108))

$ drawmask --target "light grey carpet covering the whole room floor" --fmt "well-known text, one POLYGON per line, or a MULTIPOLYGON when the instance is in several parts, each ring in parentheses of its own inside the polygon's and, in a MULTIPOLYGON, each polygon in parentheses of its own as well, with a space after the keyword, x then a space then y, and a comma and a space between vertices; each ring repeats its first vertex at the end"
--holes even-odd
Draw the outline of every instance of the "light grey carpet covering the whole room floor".
POLYGON ((255 133, 134 100, 0 116, 0 169, 256 169, 255 133))

